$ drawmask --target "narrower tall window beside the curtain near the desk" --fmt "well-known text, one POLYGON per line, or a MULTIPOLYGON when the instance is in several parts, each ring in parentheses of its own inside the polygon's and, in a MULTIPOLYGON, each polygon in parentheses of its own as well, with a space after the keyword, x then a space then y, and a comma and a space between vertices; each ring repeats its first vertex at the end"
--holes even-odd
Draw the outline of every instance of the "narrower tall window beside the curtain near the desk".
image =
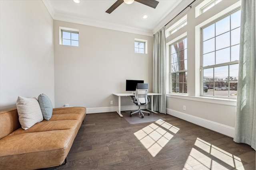
POLYGON ((187 38, 170 45, 170 92, 187 93, 187 38))

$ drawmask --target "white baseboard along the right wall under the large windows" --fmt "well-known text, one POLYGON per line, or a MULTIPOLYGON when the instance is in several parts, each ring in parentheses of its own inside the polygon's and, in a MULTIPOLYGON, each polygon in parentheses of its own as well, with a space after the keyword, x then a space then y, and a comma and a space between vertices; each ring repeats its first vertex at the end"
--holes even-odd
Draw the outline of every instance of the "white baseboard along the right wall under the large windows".
POLYGON ((207 129, 211 129, 213 131, 216 131, 218 133, 222 133, 224 135, 227 135, 229 137, 234 137, 234 133, 235 133, 235 128, 234 127, 230 127, 227 125, 223 125, 221 123, 217 123, 214 121, 210 121, 207 119, 202 119, 200 117, 196 117, 193 115, 189 115, 186 113, 182 113, 180 111, 176 111, 176 110, 172 110, 172 109, 166 109, 166 113, 175 117, 178 117, 180 119, 189 121, 191 123, 194 123, 196 125, 205 127, 207 129))

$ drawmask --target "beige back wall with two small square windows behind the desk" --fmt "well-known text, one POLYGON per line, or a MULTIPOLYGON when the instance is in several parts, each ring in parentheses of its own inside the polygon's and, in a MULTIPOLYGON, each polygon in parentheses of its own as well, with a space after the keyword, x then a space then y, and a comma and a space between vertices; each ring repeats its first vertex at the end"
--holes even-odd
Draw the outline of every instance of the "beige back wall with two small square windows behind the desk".
MULTIPOLYGON (((54 20, 56 107, 117 111, 113 93, 125 92, 126 79, 144 80, 152 92, 152 41, 149 36, 54 20), (59 27, 79 29, 79 47, 60 45, 59 27), (134 38, 148 40, 148 54, 134 53, 134 38)), ((130 98, 122 98, 121 104, 133 105, 130 98)))

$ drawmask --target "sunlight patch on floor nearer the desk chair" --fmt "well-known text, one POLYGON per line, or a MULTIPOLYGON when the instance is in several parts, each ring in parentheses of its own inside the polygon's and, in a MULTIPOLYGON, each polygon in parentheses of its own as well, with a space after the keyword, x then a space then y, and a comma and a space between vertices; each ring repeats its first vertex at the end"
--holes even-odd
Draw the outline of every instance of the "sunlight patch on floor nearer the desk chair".
POLYGON ((144 147, 153 157, 155 157, 168 143, 168 141, 172 139, 173 135, 168 131, 177 133, 179 130, 177 127, 174 127, 170 123, 167 123, 161 119, 155 123, 151 123, 150 125, 134 133, 137 139, 142 143, 142 145, 144 145, 144 147), (161 128, 159 125, 168 130, 161 128))

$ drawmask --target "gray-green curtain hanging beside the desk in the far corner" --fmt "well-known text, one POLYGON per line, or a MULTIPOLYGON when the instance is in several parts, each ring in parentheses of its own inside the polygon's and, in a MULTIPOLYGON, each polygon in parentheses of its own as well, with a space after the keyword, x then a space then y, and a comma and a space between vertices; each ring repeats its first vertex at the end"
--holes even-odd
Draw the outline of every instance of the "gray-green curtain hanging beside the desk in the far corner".
POLYGON ((165 27, 153 35, 154 111, 166 114, 166 40, 165 27))

